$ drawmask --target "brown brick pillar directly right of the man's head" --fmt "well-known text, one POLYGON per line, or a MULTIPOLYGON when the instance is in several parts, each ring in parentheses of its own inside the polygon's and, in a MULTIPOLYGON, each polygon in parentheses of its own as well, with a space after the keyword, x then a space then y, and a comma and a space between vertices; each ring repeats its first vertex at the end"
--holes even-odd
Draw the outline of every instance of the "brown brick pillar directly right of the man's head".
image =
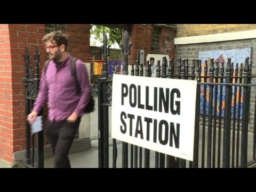
POLYGON ((67 24, 68 49, 83 62, 90 61, 90 24, 67 24))

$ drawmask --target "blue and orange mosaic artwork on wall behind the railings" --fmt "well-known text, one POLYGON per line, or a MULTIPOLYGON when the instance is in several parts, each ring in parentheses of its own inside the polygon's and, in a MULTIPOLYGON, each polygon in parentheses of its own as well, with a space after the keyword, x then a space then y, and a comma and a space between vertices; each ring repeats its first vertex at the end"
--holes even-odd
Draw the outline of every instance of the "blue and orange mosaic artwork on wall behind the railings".
MULTIPOLYGON (((252 48, 243 48, 243 49, 230 49, 230 50, 213 50, 213 51, 199 51, 198 59, 202 61, 202 71, 204 70, 205 60, 208 62, 208 68, 210 67, 210 59, 214 59, 214 65, 218 61, 219 68, 220 63, 224 62, 224 71, 226 71, 226 64, 228 58, 231 58, 231 63, 234 63, 234 69, 236 63, 238 63, 238 68, 241 66, 241 63, 245 62, 245 58, 249 57, 249 61, 251 61, 252 56, 252 48)), ((201 74, 203 75, 203 73, 201 74)), ((209 79, 207 79, 209 82, 209 79)), ((223 83, 225 83, 225 79, 223 79, 223 83)), ((221 87, 217 88, 217 117, 221 115, 221 117, 225 116, 225 92, 226 86, 222 86, 222 102, 220 102, 221 95, 221 87), (222 110, 220 111, 220 105, 222 106, 222 110)), ((205 104, 205 112, 203 110, 203 93, 204 93, 204 85, 201 85, 201 95, 200 95, 200 114, 209 115, 209 86, 206 86, 206 104, 205 104)), ((243 114, 243 91, 241 91, 241 102, 239 102, 239 88, 233 86, 232 89, 232 102, 231 102, 231 118, 242 119, 243 114), (236 92, 236 93, 235 93, 236 92), (235 97, 236 94, 236 97, 235 97), (236 103, 235 103, 236 99, 236 103), (235 111, 235 114, 234 114, 235 111)), ((215 87, 213 89, 213 107, 212 114, 214 115, 214 98, 215 98, 215 87)))

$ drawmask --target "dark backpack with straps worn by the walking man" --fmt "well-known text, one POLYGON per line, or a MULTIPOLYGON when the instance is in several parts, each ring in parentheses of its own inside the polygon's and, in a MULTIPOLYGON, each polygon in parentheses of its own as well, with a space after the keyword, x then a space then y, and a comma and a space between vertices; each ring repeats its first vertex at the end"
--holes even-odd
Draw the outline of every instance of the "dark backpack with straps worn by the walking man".
MULTIPOLYGON (((76 91, 77 91, 77 93, 81 93, 81 87, 80 87, 80 84, 78 82, 77 75, 76 75, 76 60, 77 60, 77 58, 71 57, 70 70, 71 70, 71 74, 73 75, 73 77, 75 79, 75 82, 76 82, 76 91)), ((44 63, 44 74, 46 74, 46 70, 48 68, 48 65, 49 65, 50 61, 51 60, 47 60, 44 63)), ((95 111, 94 106, 95 106, 94 99, 91 95, 90 96, 90 101, 84 109, 84 113, 94 112, 95 111)))

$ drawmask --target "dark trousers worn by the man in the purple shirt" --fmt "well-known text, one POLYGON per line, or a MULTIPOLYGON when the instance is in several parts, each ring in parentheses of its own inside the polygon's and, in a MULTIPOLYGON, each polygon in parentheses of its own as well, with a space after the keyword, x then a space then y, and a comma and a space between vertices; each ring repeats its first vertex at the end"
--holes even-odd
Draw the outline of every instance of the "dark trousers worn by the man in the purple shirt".
POLYGON ((45 134, 54 154, 54 168, 71 168, 68 153, 79 128, 81 117, 75 123, 66 120, 51 123, 46 121, 45 134))

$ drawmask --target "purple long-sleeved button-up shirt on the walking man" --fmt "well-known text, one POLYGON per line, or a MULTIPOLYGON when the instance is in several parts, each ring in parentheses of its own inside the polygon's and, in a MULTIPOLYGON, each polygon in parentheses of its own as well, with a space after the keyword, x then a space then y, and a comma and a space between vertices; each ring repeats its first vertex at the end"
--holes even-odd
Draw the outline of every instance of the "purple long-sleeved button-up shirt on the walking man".
POLYGON ((73 112, 82 116, 84 108, 90 100, 90 83, 87 69, 81 60, 76 61, 77 79, 82 94, 76 92, 76 82, 70 70, 70 55, 58 67, 53 60, 49 62, 40 80, 39 92, 33 111, 39 112, 48 101, 48 118, 50 121, 62 121, 73 112))

